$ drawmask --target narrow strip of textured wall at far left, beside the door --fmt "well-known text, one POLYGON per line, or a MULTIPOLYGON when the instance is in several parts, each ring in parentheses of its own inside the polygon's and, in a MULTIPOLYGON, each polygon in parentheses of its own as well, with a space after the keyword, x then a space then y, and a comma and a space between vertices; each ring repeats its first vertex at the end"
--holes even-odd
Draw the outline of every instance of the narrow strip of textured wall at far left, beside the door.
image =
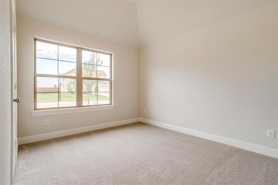
POLYGON ((10 1, 0 1, 0 48, 0 185, 7 185, 11 181, 10 1))

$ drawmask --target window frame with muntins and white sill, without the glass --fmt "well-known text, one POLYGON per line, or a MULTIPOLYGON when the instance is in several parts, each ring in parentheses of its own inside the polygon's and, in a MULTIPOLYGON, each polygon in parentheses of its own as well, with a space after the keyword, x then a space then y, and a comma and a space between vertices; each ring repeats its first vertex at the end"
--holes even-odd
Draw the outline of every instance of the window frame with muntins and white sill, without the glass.
MULTIPOLYGON (((41 38, 34 38, 34 50, 35 50, 35 72, 34 72, 34 111, 31 111, 33 116, 40 116, 40 115, 52 115, 52 114, 60 114, 60 113, 72 113, 72 112, 86 112, 90 110, 105 110, 105 109, 113 109, 114 105, 112 105, 112 60, 113 60, 113 53, 105 52, 105 51, 98 51, 86 47, 80 47, 75 46, 72 44, 64 44, 57 41, 50 41, 45 40, 41 38), (47 74, 37 74, 36 73, 36 41, 44 42, 44 43, 50 43, 57 46, 65 46, 65 47, 72 47, 77 49, 77 61, 76 61, 76 76, 63 76, 63 75, 47 75, 47 74), (98 77, 82 77, 82 50, 95 52, 98 54, 105 54, 110 55, 110 78, 98 78, 98 77), (44 108, 44 109, 37 109, 37 77, 55 77, 55 78, 73 78, 76 79, 76 102, 77 106, 71 106, 71 107, 54 107, 54 108, 44 108), (82 105, 82 95, 83 95, 83 85, 82 80, 106 80, 110 83, 110 90, 109 90, 109 104, 102 104, 102 105, 82 105), (62 110, 63 109, 63 110, 62 110), (54 110, 54 111, 53 111, 54 110), (57 110, 57 111, 55 111, 57 110)), ((59 61, 59 53, 58 53, 58 59, 59 61)), ((59 62, 58 62, 59 65, 59 62)), ((58 69, 57 69, 58 70, 58 69)), ((60 92, 60 87, 58 85, 58 96, 60 92)), ((97 101, 98 101, 98 92, 97 92, 97 101)), ((59 98, 58 98, 58 106, 59 106, 59 98)))

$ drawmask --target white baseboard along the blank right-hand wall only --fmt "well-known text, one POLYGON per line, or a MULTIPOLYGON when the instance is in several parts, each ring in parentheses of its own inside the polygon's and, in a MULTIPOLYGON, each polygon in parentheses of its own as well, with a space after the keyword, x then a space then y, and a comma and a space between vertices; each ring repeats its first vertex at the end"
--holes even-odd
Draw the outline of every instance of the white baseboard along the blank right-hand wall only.
POLYGON ((249 150, 249 151, 252 151, 252 152, 259 153, 259 154, 268 155, 268 156, 271 156, 271 157, 274 157, 274 158, 278 158, 278 150, 274 149, 274 148, 269 148, 269 147, 266 147, 266 146, 256 145, 256 144, 253 144, 253 143, 239 141, 239 140, 236 140, 236 139, 231 139, 231 138, 226 138, 226 137, 222 137, 222 136, 218 136, 218 135, 214 135, 214 134, 200 132, 200 131, 197 131, 197 130, 187 129, 187 128, 184 128, 184 127, 170 125, 170 124, 166 124, 166 123, 162 123, 162 122, 158 122, 158 121, 153 121, 153 120, 149 120, 149 119, 145 119, 145 118, 141 118, 141 117, 139 117, 139 121, 141 121, 143 123, 150 124, 150 125, 159 126, 159 127, 165 128, 165 129, 174 130, 174 131, 181 132, 181 133, 184 133, 184 134, 197 136, 199 138, 204 138, 204 139, 208 139, 208 140, 211 140, 211 141, 220 142, 220 143, 230 145, 230 146, 234 146, 234 147, 238 147, 238 148, 241 148, 241 149, 244 149, 244 150, 249 150))

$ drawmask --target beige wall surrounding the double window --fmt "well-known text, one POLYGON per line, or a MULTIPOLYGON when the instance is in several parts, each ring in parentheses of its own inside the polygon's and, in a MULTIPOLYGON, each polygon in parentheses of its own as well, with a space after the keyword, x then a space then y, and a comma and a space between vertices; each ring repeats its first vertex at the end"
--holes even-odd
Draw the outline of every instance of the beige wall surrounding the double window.
POLYGON ((18 137, 96 125, 139 116, 139 49, 17 17, 18 137), (34 36, 114 53, 114 105, 111 110, 32 117, 34 36), (128 78, 127 78, 128 76, 128 78), (44 119, 49 118, 49 125, 44 119))

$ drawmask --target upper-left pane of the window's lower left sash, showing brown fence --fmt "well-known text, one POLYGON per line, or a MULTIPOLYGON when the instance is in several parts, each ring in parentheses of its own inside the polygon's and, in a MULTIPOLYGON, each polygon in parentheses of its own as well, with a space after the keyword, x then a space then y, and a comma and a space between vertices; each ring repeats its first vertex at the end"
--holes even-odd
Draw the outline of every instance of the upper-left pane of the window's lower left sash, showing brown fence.
POLYGON ((58 78, 38 76, 37 92, 58 92, 58 78))

